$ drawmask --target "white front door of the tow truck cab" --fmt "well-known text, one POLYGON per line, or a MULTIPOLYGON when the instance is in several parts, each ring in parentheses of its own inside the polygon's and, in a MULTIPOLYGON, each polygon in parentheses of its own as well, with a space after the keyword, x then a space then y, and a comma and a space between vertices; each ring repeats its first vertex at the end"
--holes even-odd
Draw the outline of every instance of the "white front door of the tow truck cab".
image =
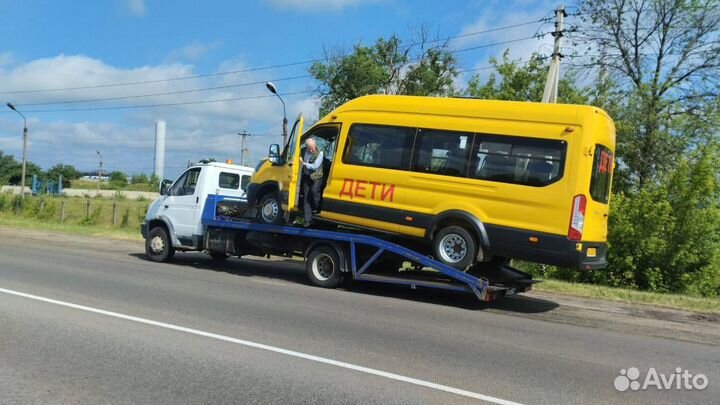
POLYGON ((170 221, 175 235, 183 245, 192 245, 192 235, 197 227, 201 170, 201 167, 192 167, 175 180, 160 209, 161 215, 170 221))

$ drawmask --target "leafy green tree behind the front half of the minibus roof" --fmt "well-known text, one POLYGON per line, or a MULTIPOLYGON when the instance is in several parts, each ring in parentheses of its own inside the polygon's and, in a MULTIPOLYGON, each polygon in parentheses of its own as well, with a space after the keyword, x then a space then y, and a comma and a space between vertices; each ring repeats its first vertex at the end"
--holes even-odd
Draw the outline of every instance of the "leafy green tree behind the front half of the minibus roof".
POLYGON ((350 54, 326 52, 326 60, 310 66, 310 74, 318 81, 320 113, 325 115, 367 94, 453 94, 458 70, 447 43, 429 40, 427 29, 421 29, 420 41, 413 44, 404 45, 393 35, 371 46, 355 45, 350 54))

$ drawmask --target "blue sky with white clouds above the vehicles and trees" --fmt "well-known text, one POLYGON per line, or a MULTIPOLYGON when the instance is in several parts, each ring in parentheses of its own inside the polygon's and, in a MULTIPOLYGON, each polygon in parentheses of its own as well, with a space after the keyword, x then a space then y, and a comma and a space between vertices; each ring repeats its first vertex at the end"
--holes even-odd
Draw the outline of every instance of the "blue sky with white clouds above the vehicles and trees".
MULTIPOLYGON (((304 61, 323 56, 324 48, 350 48, 396 33, 412 39, 420 24, 441 37, 483 31, 549 16, 556 2, 411 1, 411 0, 0 0, 0 101, 28 111, 28 158, 48 168, 70 163, 81 170, 104 166, 126 173, 152 170, 154 123, 167 121, 166 177, 188 160, 205 157, 239 161, 237 132, 256 134, 250 160, 278 142, 282 107, 272 97, 153 108, 40 112, 88 107, 212 101, 267 96, 262 84, 168 96, 128 97, 275 80, 287 95, 288 116, 302 112, 317 119, 318 101, 308 65, 262 69, 192 80, 17 93, 163 80, 304 61), (16 92, 16 93, 11 93, 16 92), (68 104, 36 105, 67 102, 68 104)), ((451 42, 464 49, 523 38, 551 24, 533 24, 451 42)), ((487 66, 506 48, 525 59, 533 51, 549 53, 551 38, 526 40, 457 54, 465 69, 487 66)), ((487 70, 478 71, 487 75, 487 70)), ((470 77, 458 80, 462 86, 470 77)), ((20 157, 22 120, 0 113, 0 150, 20 157)))

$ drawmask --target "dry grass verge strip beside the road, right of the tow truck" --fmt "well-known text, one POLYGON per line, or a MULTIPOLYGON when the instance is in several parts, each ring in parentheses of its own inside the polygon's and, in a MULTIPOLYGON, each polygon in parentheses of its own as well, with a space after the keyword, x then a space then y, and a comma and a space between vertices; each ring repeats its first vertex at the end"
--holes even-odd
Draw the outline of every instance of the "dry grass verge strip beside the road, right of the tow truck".
POLYGON ((540 292, 618 301, 628 304, 644 304, 693 312, 720 313, 720 299, 718 298, 654 293, 559 280, 543 280, 542 283, 535 284, 533 289, 540 292))

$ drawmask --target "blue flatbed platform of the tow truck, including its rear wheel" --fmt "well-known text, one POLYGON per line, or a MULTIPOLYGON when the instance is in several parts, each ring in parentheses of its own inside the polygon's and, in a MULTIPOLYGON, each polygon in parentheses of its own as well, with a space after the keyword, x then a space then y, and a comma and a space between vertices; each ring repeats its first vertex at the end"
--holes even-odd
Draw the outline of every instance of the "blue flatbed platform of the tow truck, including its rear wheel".
POLYGON ((204 250, 216 256, 301 256, 310 281, 320 287, 357 280, 466 292, 489 302, 529 291, 537 282, 507 262, 458 270, 381 235, 257 223, 237 215, 248 211, 243 204, 208 195, 201 218, 204 250))

